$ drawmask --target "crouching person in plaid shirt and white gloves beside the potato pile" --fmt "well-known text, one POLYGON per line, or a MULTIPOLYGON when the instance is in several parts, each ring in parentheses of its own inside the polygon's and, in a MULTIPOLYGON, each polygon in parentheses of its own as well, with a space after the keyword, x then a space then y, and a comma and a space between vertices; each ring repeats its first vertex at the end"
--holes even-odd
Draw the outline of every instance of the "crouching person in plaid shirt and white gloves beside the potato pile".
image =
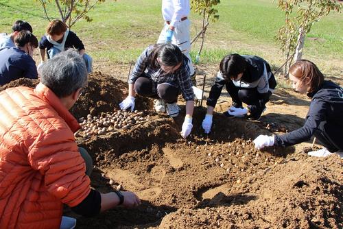
POLYGON ((163 43, 150 45, 139 56, 129 80, 129 95, 119 104, 122 110, 134 110, 136 94, 155 98, 157 112, 167 112, 177 117, 180 111, 178 95, 186 100, 186 117, 181 135, 186 138, 191 133, 194 110, 194 92, 189 73, 188 58, 177 45, 163 43))

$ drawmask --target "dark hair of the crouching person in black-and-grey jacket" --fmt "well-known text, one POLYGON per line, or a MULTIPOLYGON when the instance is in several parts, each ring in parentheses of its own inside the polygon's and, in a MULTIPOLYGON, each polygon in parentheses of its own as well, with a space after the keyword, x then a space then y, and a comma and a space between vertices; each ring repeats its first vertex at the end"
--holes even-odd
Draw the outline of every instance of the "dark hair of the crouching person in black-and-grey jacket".
POLYGON ((245 70, 246 60, 237 53, 225 56, 220 62, 220 71, 226 80, 236 80, 239 73, 243 73, 245 70))

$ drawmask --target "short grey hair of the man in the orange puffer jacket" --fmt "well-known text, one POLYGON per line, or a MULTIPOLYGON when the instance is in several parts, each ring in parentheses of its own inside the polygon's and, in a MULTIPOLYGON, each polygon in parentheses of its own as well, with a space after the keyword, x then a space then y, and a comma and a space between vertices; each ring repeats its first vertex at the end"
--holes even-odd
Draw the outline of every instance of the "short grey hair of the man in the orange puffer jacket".
POLYGON ((68 49, 44 62, 38 69, 40 82, 55 93, 57 97, 66 97, 87 84, 86 63, 78 51, 68 49))

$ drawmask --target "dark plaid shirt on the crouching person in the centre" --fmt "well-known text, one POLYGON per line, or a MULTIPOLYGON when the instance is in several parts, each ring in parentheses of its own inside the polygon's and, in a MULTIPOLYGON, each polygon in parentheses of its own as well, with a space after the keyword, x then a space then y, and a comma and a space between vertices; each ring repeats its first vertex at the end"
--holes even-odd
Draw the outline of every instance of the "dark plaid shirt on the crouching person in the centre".
POLYGON ((191 75, 189 73, 188 59, 184 56, 184 60, 181 66, 174 73, 166 74, 161 68, 153 69, 149 67, 150 53, 153 46, 147 47, 141 56, 139 56, 134 69, 129 77, 128 83, 134 84, 134 82, 141 77, 145 72, 147 77, 150 77, 153 82, 153 91, 156 92, 156 84, 167 83, 171 86, 181 89, 182 97, 186 100, 194 100, 194 92, 191 83, 191 75))

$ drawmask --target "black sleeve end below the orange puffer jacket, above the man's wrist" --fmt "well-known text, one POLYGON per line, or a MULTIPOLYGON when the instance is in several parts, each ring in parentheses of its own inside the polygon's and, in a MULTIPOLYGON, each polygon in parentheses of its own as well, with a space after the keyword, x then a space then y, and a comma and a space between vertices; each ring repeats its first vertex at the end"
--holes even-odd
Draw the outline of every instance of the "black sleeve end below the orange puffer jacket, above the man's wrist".
POLYGON ((73 206, 71 210, 74 213, 83 215, 84 217, 93 217, 99 214, 101 209, 102 197, 100 193, 94 189, 91 189, 91 192, 87 197, 77 206, 73 206))

